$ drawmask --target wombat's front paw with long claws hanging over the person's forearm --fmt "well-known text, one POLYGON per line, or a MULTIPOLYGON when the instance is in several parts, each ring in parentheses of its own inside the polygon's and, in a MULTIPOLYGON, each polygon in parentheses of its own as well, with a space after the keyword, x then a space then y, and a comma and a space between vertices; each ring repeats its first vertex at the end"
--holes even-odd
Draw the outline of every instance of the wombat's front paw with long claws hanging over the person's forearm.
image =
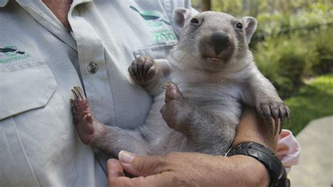
POLYGON ((272 128, 272 134, 278 133, 279 120, 280 120, 280 132, 285 124, 285 117, 287 117, 287 124, 289 125, 290 110, 283 103, 283 101, 264 101, 257 106, 259 115, 264 120, 265 124, 270 124, 272 128), (273 118, 273 119, 272 119, 273 118), (274 124, 273 124, 274 120, 274 124))

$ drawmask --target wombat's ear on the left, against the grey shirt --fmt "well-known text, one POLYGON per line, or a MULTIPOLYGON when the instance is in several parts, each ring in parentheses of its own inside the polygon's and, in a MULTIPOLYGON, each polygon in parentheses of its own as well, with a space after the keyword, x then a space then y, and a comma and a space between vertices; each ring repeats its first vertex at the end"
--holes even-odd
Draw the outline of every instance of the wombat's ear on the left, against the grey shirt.
POLYGON ((176 8, 174 11, 172 18, 174 20, 174 31, 178 37, 181 35, 185 22, 191 17, 191 11, 186 8, 176 8))

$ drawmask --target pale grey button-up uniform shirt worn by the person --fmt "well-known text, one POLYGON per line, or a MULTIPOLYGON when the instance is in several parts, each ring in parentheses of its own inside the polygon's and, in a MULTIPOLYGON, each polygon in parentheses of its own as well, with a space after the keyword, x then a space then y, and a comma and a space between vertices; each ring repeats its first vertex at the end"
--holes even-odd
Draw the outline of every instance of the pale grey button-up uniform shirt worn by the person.
POLYGON ((189 0, 74 0, 68 33, 40 0, 0 0, 0 186, 105 186, 107 156, 79 140, 70 89, 83 86, 96 118, 143 124, 151 98, 127 67, 165 58, 174 8, 189 0))

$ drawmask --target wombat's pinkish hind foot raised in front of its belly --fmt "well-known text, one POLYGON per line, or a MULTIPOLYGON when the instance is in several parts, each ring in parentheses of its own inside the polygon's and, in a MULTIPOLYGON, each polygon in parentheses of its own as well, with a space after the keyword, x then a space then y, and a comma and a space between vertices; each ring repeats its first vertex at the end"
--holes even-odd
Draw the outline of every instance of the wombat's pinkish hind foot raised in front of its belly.
POLYGON ((160 112, 171 129, 180 131, 183 129, 181 125, 188 117, 188 103, 179 91, 178 86, 173 82, 164 84, 163 88, 165 89, 165 104, 160 112))

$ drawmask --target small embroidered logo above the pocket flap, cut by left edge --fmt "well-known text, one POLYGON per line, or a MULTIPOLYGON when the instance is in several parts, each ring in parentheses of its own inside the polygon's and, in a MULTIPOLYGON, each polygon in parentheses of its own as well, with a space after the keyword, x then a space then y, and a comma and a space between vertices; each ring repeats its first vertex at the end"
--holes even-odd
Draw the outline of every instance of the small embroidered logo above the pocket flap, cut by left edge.
POLYGON ((4 46, 0 48, 0 63, 10 63, 17 60, 29 58, 30 54, 18 50, 16 46, 4 46))

